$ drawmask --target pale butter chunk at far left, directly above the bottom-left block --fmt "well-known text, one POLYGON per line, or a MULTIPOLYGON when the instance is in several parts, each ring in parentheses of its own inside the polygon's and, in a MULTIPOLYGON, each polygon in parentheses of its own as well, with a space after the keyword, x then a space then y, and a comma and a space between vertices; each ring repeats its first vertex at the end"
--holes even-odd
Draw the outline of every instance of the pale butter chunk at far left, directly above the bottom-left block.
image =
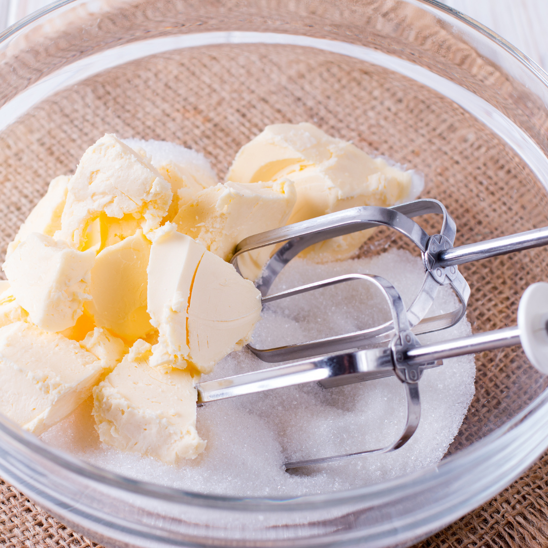
POLYGON ((15 299, 33 323, 49 332, 75 325, 89 292, 93 250, 81 252, 66 242, 32 232, 4 262, 15 299))

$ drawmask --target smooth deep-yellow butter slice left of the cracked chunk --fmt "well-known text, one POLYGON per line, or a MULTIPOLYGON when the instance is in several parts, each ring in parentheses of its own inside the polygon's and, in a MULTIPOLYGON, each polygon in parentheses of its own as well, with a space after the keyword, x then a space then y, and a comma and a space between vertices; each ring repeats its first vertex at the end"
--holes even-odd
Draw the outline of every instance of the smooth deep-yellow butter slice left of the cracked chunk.
POLYGON ((151 242, 138 230, 103 249, 91 271, 91 300, 85 311, 96 326, 133 343, 154 328, 147 309, 147 273, 151 242))

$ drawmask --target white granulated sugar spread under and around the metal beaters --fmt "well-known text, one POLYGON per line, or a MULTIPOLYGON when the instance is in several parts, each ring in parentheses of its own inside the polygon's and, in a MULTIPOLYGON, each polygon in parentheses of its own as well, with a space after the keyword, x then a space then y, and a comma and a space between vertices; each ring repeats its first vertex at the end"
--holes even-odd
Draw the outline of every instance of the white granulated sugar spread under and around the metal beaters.
MULTIPOLYGON (((375 273, 389 279, 407 305, 424 277, 421 260, 401 250, 371 259, 317 265, 292 261, 272 292, 343 273, 375 273)), ((458 305, 441 287, 430 312, 458 305)), ((383 296, 372 284, 355 281, 265 307, 254 346, 295 343, 351 332, 389 319, 383 296)), ((423 343, 470 334, 457 326, 421 336, 423 343)), ((247 349, 233 352, 202 380, 273 367, 247 349)), ((384 447, 399 436, 405 420, 403 386, 396 378, 322 389, 295 386, 208 403, 198 408, 197 428, 208 440, 203 454, 169 466, 107 447, 94 431, 92 402, 42 435, 51 446, 89 463, 133 478, 195 492, 236 496, 295 496, 349 489, 404 475, 437 463, 459 430, 474 393, 473 356, 447 359, 420 380, 420 425, 410 441, 390 454, 369 455, 330 465, 284 472, 284 462, 384 447)))

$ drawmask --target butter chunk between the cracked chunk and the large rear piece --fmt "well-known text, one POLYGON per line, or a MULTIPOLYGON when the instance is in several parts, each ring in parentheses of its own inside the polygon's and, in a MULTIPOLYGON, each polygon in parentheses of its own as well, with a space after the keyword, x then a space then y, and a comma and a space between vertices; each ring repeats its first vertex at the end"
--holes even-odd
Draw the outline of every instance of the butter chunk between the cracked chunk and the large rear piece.
POLYGON ((174 219, 179 232, 229 261, 242 239, 285 226, 293 210, 293 182, 226 182, 202 190, 174 219))

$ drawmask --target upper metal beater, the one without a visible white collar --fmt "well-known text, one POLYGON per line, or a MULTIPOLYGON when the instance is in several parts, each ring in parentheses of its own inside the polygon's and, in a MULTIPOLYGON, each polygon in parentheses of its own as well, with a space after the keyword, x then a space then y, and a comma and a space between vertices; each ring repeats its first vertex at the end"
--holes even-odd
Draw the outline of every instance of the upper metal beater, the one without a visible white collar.
MULTIPOLYGON (((261 278, 255 283, 263 295, 262 302, 266 304, 269 301, 359 278, 355 274, 338 276, 285 292, 267 294, 279 272, 302 250, 328 238, 375 226, 387 226, 406 236, 419 248, 423 258, 424 281, 419 293, 407 309, 409 326, 414 334, 452 327, 464 316, 470 297, 470 288, 459 272, 458 265, 548 244, 548 227, 543 227, 516 235, 453 247, 456 225, 446 208, 437 200, 419 199, 391 208, 364 206, 346 209, 250 236, 238 244, 232 264, 238 269, 238 257, 243 253, 283 243, 283 246, 266 263, 261 278), (419 215, 429 213, 442 215, 442 227, 438 234, 429 235, 413 220, 419 215), (443 285, 452 287, 459 298, 460 306, 446 314, 425 317, 439 287, 443 285)), ((355 333, 306 343, 271 349, 258 349, 250 345, 248 347, 262 361, 281 362, 372 346, 390 340, 394 334, 393 322, 390 321, 355 333)))

